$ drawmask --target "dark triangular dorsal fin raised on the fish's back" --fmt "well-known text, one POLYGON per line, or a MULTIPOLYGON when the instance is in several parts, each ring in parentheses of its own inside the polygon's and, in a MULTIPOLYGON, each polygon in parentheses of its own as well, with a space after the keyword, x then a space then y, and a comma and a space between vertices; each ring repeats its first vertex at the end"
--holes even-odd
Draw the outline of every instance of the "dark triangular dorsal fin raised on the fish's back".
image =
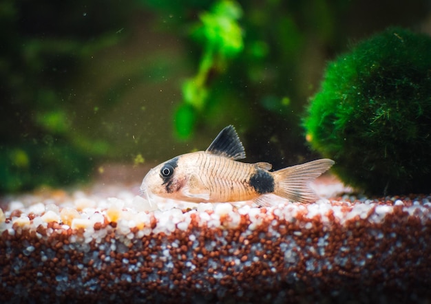
POLYGON ((218 133, 206 152, 231 158, 232 160, 245 158, 244 146, 242 146, 240 138, 232 125, 225 127, 218 133))

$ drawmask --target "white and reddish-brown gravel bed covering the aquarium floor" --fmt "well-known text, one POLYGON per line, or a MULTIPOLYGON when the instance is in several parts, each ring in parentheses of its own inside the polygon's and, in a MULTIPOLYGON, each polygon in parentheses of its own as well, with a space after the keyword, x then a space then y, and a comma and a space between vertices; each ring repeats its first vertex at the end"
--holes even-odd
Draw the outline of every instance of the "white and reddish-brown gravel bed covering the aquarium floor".
POLYGON ((429 303, 431 196, 314 186, 267 208, 103 184, 3 197, 0 302, 429 303))

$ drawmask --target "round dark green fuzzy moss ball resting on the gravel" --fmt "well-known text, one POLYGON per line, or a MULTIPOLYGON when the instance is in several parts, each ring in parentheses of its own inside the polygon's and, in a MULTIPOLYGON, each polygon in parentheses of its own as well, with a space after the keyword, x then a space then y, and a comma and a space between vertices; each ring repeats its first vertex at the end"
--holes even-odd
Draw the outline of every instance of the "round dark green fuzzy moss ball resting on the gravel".
POLYGON ((346 184, 430 193, 430 36, 390 28, 329 63, 304 127, 346 184))

